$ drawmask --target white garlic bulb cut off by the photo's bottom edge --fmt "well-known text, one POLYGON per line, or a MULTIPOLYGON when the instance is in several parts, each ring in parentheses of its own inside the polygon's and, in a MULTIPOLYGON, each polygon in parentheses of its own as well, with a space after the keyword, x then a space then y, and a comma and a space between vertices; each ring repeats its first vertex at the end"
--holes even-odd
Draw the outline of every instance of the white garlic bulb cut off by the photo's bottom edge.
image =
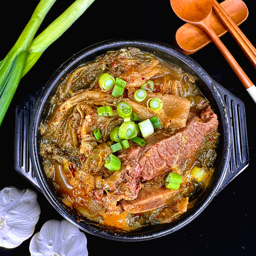
POLYGON ((29 245, 31 256, 87 256, 87 239, 67 220, 46 221, 29 245))

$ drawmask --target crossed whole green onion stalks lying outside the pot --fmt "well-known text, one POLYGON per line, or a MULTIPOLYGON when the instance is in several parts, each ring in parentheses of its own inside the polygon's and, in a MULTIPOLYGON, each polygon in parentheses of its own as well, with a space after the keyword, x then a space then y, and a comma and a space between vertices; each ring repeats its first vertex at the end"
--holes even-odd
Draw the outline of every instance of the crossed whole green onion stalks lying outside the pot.
POLYGON ((56 0, 41 0, 17 42, 0 61, 0 125, 10 106, 20 79, 35 65, 42 53, 58 39, 94 2, 76 0, 41 34, 34 38, 45 15, 56 0))

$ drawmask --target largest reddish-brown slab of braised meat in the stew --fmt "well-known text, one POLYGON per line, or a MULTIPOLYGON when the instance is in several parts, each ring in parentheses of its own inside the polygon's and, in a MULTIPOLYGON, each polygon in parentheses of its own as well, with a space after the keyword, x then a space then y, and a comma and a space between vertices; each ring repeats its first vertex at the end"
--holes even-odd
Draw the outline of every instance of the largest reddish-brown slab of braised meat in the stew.
MULTIPOLYGON (((202 111, 201 117, 194 116, 178 132, 168 134, 158 130, 145 139, 147 141, 145 146, 125 149, 118 156, 122 161, 121 169, 105 180, 111 195, 116 195, 118 201, 120 199, 130 201, 136 198, 137 201, 134 202, 139 205, 140 201, 143 201, 138 198, 141 181, 165 175, 170 169, 178 170, 181 175, 185 174, 195 161, 197 149, 204 137, 217 128, 217 115, 207 107, 202 111)), ((141 205, 143 204, 146 204, 146 201, 141 202, 141 205)), ((149 208, 150 204, 143 207, 149 208)))

